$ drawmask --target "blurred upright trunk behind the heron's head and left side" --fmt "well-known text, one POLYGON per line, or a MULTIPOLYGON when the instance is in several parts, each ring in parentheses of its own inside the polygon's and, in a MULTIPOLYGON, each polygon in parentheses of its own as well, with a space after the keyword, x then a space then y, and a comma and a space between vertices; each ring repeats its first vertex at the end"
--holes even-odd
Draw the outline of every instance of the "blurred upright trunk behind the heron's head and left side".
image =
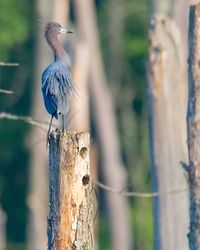
MULTIPOLYGON (((35 59, 33 117, 50 120, 45 110, 41 95, 41 74, 45 67, 53 61, 52 52, 44 39, 45 22, 54 20, 65 25, 68 14, 68 1, 37 1, 39 19, 35 59)), ((45 250, 47 246, 47 214, 48 214, 48 159, 46 150, 46 133, 34 128, 31 134, 30 191, 28 204, 30 208, 28 226, 28 249, 45 250)))

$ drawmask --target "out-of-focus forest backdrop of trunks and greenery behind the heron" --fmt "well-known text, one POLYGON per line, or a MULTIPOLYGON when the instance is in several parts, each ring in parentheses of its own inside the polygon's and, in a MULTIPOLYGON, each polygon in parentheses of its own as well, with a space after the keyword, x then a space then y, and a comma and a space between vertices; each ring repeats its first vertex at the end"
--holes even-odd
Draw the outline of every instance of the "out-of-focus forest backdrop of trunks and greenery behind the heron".
MULTIPOLYGON (((94 179, 116 189, 151 192, 146 68, 149 19, 160 11, 157 2, 0 0, 0 61, 20 64, 0 66, 0 89, 13 91, 0 93, 0 112, 49 121, 40 76, 53 55, 43 33, 47 21, 59 22, 74 32, 60 37, 71 56, 78 92, 69 128, 91 133, 94 179)), ((170 2, 170 11, 179 13, 176 21, 186 41, 188 3, 160 2, 170 2)), ((0 249, 44 250, 46 131, 0 119, 0 138, 0 249)), ((127 198, 101 189, 96 195, 98 249, 153 249, 151 198, 127 198)))

